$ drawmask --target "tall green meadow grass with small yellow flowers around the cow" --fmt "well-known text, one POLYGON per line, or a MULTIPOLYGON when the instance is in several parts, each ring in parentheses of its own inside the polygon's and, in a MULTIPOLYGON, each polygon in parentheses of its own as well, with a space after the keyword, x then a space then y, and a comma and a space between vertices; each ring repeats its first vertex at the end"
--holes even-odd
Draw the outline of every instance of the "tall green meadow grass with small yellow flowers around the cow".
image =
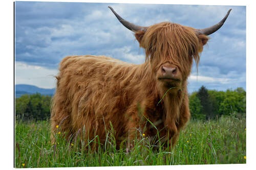
MULTIPOLYGON (((246 163, 245 128, 245 118, 234 116, 205 122, 191 120, 172 151, 161 147, 154 150, 141 134, 130 152, 126 151, 125 143, 117 151, 113 135, 109 132, 108 140, 103 143, 104 149, 99 147, 92 151, 79 137, 70 142, 56 134, 56 144, 52 144, 49 122, 16 121, 15 167, 246 163)), ((97 137, 92 142, 97 142, 97 137)))

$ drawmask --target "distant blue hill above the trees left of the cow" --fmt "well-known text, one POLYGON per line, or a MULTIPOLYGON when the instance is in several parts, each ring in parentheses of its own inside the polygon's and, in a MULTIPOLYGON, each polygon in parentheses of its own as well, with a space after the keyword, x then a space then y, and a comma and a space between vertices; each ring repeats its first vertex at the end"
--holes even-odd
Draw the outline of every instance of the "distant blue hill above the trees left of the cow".
POLYGON ((39 88, 37 86, 28 85, 28 84, 17 84, 15 85, 16 98, 19 98, 23 94, 34 94, 40 93, 43 95, 53 95, 55 93, 55 88, 39 88))

